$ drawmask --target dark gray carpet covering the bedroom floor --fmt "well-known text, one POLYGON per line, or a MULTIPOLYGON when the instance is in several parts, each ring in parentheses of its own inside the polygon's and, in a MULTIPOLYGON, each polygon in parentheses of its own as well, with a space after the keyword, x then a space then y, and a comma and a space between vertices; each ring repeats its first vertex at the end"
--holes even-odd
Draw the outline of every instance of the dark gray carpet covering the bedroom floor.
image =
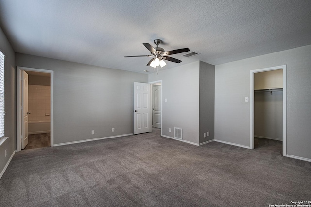
POLYGON ((0 180, 1 207, 255 206, 311 200, 311 163, 256 149, 200 147, 153 133, 16 153, 0 180))

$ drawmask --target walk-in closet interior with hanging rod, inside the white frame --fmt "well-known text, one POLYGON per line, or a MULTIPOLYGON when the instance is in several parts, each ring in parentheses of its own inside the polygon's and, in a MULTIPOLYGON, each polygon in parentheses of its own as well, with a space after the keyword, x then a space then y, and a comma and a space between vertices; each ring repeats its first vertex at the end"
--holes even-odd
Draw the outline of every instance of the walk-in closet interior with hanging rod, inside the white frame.
MULTIPOLYGON (((254 74, 255 148, 279 144, 283 138, 283 70, 254 74)), ((281 148, 282 149, 282 148, 281 148)))

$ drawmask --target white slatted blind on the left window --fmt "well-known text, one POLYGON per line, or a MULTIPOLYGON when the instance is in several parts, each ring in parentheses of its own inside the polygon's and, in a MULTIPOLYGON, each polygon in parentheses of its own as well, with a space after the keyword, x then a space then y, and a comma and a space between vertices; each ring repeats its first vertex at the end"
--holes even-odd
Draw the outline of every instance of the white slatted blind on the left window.
POLYGON ((0 51, 0 139, 4 137, 4 54, 0 51))

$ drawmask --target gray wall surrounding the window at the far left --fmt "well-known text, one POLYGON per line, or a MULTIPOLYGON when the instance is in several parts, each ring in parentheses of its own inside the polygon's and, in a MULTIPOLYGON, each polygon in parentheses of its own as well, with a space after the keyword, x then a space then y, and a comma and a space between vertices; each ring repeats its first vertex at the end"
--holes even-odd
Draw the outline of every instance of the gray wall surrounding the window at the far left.
POLYGON ((16 146, 16 104, 15 104, 15 54, 0 28, 0 50, 5 55, 4 89, 5 89, 5 137, 9 137, 0 146, 0 173, 13 154, 16 146), (5 150, 7 156, 5 157, 5 150))

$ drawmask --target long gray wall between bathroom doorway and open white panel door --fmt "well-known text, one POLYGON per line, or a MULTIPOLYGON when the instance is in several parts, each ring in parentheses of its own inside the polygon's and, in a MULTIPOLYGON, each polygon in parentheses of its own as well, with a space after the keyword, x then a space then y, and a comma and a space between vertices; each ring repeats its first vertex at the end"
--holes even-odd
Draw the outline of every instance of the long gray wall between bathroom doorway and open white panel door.
POLYGON ((16 66, 54 71, 54 144, 133 133, 133 82, 148 75, 20 53, 16 66))

